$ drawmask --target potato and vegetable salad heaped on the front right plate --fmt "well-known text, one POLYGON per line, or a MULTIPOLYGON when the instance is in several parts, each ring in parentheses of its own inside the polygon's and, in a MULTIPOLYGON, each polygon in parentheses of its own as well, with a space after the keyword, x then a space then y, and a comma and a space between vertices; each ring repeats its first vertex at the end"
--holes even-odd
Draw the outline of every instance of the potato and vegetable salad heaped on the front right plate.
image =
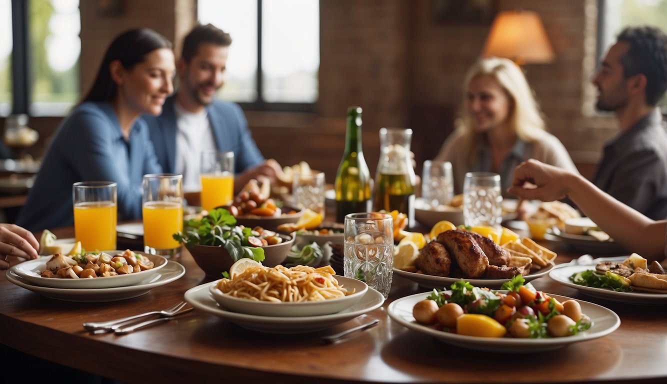
POLYGON ((536 291, 517 275, 504 283, 506 293, 474 287, 465 280, 452 291, 434 289, 416 303, 412 314, 418 323, 459 335, 477 337, 548 338, 576 335, 590 329, 590 317, 575 300, 560 303, 536 291))

